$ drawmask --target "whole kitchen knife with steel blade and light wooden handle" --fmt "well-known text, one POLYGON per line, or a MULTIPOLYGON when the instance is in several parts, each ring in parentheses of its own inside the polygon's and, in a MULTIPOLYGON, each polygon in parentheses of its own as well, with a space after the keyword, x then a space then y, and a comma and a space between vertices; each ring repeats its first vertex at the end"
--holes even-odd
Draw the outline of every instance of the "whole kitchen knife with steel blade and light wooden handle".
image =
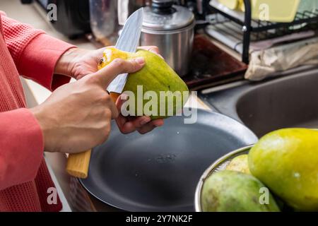
MULTIPOLYGON (((139 10, 131 14, 126 20, 115 47, 125 52, 136 52, 139 45, 142 24, 143 8, 139 8, 139 10)), ((112 97, 114 102, 116 102, 122 93, 127 81, 127 76, 128 73, 120 74, 108 85, 107 91, 110 93, 110 97, 112 97)), ((73 177, 86 178, 88 176, 90 153, 91 150, 87 150, 83 153, 69 154, 66 163, 66 172, 73 177)))

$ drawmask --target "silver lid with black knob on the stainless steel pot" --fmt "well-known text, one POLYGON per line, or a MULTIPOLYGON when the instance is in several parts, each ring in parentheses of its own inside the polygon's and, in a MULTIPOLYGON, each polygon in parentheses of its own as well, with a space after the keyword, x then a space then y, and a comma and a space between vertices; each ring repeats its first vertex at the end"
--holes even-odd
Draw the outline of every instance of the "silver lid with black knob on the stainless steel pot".
POLYGON ((172 1, 155 1, 143 11, 143 28, 151 30, 175 30, 184 28, 194 21, 188 8, 172 5, 172 1))

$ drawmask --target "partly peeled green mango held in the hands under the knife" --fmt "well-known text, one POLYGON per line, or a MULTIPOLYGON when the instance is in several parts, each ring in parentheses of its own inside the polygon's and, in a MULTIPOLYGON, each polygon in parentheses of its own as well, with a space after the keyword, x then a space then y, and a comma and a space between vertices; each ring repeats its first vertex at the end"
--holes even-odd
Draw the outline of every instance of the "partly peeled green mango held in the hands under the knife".
POLYGON ((157 54, 143 49, 137 50, 136 53, 123 52, 110 47, 105 49, 98 68, 107 66, 117 58, 129 60, 137 57, 143 57, 146 64, 141 70, 129 74, 123 90, 123 93, 131 91, 135 95, 134 115, 148 115, 151 119, 160 119, 179 113, 189 98, 189 89, 177 73, 157 54), (145 100, 143 95, 138 95, 140 85, 142 85, 143 93, 153 91, 156 97, 147 97, 145 100), (149 100, 154 100, 156 105, 150 105, 149 100), (151 109, 151 113, 143 111, 145 105, 147 109, 151 109))

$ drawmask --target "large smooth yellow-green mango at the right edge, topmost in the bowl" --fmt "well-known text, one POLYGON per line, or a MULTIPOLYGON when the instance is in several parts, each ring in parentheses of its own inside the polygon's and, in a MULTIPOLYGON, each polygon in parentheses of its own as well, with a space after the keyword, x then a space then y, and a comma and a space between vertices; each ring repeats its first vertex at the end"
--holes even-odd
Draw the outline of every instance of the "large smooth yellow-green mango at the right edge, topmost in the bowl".
POLYGON ((318 131, 280 129, 249 151, 249 170, 295 210, 318 210, 318 131))

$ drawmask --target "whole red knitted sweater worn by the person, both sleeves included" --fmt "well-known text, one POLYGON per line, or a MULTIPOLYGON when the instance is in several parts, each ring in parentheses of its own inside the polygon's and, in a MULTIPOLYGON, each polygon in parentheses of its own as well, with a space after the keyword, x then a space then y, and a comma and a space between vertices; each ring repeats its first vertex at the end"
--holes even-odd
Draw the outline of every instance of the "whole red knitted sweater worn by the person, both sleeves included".
POLYGON ((59 211, 47 202, 54 187, 43 158, 42 131, 26 108, 20 76, 49 90, 69 82, 54 75, 59 57, 73 47, 0 12, 0 212, 59 211))

